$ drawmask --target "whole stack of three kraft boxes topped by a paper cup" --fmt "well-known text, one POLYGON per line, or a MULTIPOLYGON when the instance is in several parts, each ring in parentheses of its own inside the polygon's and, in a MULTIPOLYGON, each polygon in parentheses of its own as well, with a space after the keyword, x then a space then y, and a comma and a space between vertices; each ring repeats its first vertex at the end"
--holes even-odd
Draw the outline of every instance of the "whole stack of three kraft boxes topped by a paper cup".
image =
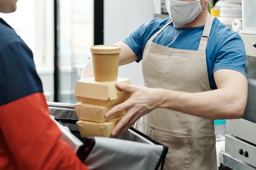
POLYGON ((131 84, 131 80, 117 77, 121 47, 94 45, 90 51, 94 77, 79 80, 76 84, 74 95, 78 103, 74 107, 79 118, 76 124, 82 137, 111 137, 125 110, 108 118, 105 113, 130 97, 128 92, 116 88, 116 82, 131 84))

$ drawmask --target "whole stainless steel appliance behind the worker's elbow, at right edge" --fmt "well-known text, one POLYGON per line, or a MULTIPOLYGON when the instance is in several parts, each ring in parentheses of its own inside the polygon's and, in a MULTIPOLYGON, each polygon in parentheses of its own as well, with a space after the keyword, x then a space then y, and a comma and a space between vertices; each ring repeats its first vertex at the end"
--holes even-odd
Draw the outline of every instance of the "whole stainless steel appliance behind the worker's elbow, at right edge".
MULTIPOLYGON (((256 35, 240 34, 247 55, 248 100, 242 119, 226 122, 221 164, 233 170, 256 170, 256 35)), ((221 167, 219 168, 221 170, 221 167)))

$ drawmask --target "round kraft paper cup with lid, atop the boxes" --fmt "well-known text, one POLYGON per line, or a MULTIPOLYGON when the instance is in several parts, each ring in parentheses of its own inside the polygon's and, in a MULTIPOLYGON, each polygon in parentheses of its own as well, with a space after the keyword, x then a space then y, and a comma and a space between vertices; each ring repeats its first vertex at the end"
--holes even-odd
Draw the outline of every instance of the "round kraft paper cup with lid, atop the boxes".
POLYGON ((94 79, 99 82, 117 80, 121 47, 117 45, 94 45, 90 51, 93 57, 94 79))

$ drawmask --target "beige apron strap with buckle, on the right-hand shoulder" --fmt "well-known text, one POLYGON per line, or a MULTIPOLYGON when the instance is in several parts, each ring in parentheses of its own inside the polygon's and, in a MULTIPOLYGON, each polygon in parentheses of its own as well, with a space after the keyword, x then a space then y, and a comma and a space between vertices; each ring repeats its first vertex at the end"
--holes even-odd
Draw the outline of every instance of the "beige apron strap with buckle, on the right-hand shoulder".
POLYGON ((212 28, 212 16, 208 12, 207 19, 206 19, 205 26, 204 26, 203 35, 201 36, 201 40, 199 43, 198 51, 206 50, 207 42, 210 39, 209 35, 210 35, 211 28, 212 28))

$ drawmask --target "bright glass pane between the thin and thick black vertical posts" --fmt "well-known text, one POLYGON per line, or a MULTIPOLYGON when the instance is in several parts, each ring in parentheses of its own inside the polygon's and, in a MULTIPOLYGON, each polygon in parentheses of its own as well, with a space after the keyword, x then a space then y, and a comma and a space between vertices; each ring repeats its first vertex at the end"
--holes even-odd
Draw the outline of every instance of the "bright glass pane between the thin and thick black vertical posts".
POLYGON ((76 103, 76 82, 93 45, 93 0, 59 0, 58 3, 58 102, 76 103))

